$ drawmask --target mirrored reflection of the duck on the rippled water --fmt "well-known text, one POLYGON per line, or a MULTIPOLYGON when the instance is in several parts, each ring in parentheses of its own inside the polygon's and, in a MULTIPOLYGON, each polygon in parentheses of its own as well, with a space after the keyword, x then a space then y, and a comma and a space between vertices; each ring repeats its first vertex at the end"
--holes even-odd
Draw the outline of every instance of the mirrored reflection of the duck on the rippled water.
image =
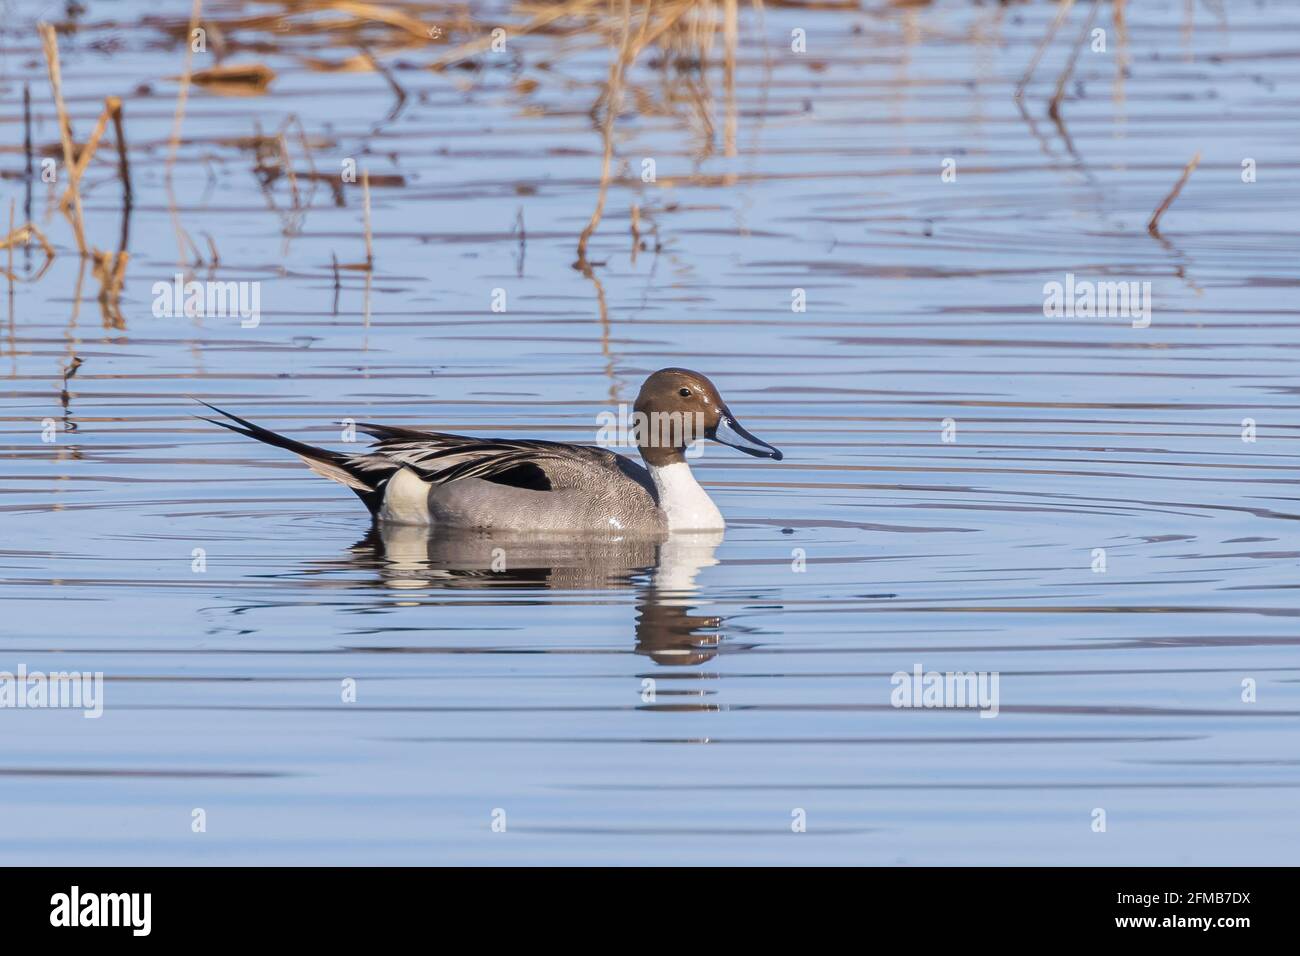
POLYGON ((662 538, 528 536, 377 523, 352 548, 389 588, 540 588, 636 592, 636 650, 662 665, 710 661, 723 618, 693 615, 696 576, 718 563, 723 532, 662 538))

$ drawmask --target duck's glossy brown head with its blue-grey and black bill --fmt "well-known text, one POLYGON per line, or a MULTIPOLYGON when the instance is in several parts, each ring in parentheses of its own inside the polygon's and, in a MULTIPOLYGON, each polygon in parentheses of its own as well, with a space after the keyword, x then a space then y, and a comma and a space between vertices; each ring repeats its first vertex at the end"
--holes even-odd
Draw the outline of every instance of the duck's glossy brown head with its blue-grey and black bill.
POLYGON ((637 445, 646 464, 685 460, 686 446, 712 438, 755 458, 781 460, 781 453, 736 421, 707 376, 689 368, 660 368, 637 395, 637 445))

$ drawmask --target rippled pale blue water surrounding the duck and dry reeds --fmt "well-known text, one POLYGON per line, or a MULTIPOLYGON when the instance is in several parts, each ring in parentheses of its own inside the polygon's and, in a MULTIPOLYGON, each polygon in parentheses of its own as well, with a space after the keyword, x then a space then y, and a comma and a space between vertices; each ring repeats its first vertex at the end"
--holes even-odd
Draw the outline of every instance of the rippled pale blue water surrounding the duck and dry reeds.
MULTIPOLYGON (((1294 862, 1294 7, 1130 4, 1124 47, 1108 5, 1061 127, 1046 100, 1088 4, 1023 114, 1052 5, 745 9, 733 108, 720 40, 707 82, 654 52, 633 70, 593 281, 571 263, 599 40, 514 38, 439 74, 446 47, 385 53, 372 31, 408 94, 393 116, 378 74, 307 61, 356 56, 309 16, 240 27, 282 8, 208 4, 228 43, 261 44, 228 62, 277 78, 192 91, 174 191, 220 258, 194 277, 260 282, 256 328, 151 311, 178 269, 187 20, 159 7, 92 1, 61 38, 78 139, 125 100, 121 319, 39 181, 57 255, 4 303, 0 670, 103 671, 105 709, 0 711, 0 858, 1294 862), (296 126, 311 207, 255 176, 248 138, 290 116, 317 170, 403 177, 373 189, 373 274, 335 287, 333 259, 365 255, 360 193, 313 191, 296 126), (1044 317, 1066 273, 1150 282, 1149 328, 1044 317), (786 455, 696 463, 725 537, 512 542, 504 571, 490 540, 373 532, 346 489, 192 418, 202 398, 334 447, 348 418, 589 442, 670 364, 786 455), (916 665, 997 672, 997 718, 890 706, 916 665)), ((38 14, 5 4, 0 35, 20 222, 23 82, 38 148, 58 140, 38 14)), ((84 185, 100 248, 121 230, 110 143, 84 185)))

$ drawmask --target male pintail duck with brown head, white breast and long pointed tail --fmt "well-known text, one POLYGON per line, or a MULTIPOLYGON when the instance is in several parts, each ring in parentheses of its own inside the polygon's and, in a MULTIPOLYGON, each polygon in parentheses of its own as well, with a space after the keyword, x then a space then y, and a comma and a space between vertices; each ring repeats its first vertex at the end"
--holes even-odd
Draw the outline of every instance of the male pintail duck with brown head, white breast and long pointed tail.
POLYGON ((740 427, 706 376, 686 368, 659 369, 637 395, 637 449, 645 467, 586 445, 369 424, 356 428, 377 440, 370 449, 343 454, 208 407, 230 421, 207 421, 292 451, 317 475, 351 488, 377 519, 434 528, 719 531, 722 512, 690 473, 686 446, 703 436, 781 460, 780 451, 740 427))

